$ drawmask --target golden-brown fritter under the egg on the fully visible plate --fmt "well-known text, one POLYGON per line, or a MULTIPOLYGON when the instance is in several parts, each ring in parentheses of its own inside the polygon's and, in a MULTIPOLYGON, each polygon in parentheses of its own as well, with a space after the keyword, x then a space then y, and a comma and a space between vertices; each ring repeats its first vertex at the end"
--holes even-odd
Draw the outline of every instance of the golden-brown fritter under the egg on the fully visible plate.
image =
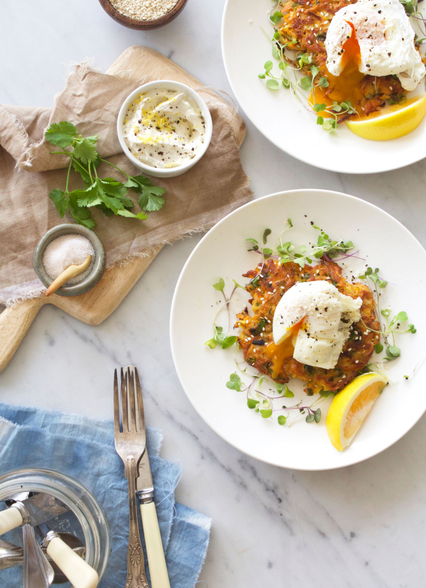
POLYGON ((244 274, 244 277, 251 279, 256 276, 258 278, 246 286, 252 296, 249 303, 254 314, 250 316, 246 308, 237 315, 235 324, 241 329, 238 344, 249 365, 278 383, 287 383, 291 377, 297 377, 306 382, 304 390, 309 396, 322 390, 338 392, 367 365, 374 345, 380 339, 378 333, 369 330, 379 330, 380 325, 375 317, 374 298, 368 286, 347 282, 340 266, 329 260, 301 268, 294 262, 279 265, 275 260, 268 259, 263 268, 258 266, 244 274), (342 294, 362 299, 361 320, 351 326, 350 338, 345 342, 333 369, 314 368, 292 357, 280 358, 279 346, 275 346, 272 338, 272 319, 281 296, 296 282, 312 280, 330 281, 342 294))

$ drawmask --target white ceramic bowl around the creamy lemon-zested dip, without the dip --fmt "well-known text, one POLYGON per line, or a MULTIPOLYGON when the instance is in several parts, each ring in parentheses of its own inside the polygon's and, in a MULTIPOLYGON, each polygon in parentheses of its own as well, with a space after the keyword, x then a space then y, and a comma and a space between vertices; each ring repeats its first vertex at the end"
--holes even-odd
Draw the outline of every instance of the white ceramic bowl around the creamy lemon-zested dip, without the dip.
POLYGON ((127 96, 127 98, 123 102, 123 104, 120 108, 120 111, 118 113, 118 119, 117 119, 118 140, 120 142, 120 145, 121 145, 125 155, 127 155, 129 160, 135 166, 137 166, 137 168, 141 169, 142 172, 148 173, 148 175, 155 176, 156 178, 174 178, 174 176, 179 176, 182 173, 187 172, 188 169, 191 169, 192 167, 194 167, 195 163, 197 163, 202 158, 204 153, 207 151, 207 148, 210 143, 211 135, 212 135, 212 130, 213 130, 213 125, 212 125, 211 115, 210 115, 209 109, 207 107, 207 104, 204 102, 204 100, 201 98, 201 96, 197 92, 195 92, 195 90, 193 90, 192 88, 189 88, 189 86, 185 85, 184 83, 174 82, 174 81, 168 80, 168 79, 160 79, 155 82, 144 83, 143 86, 139 86, 139 88, 135 89, 135 91, 132 92, 129 96, 127 96), (142 163, 141 161, 139 161, 139 159, 137 159, 130 152, 130 150, 125 142, 125 139, 124 139, 124 119, 125 119, 125 115, 127 113, 127 110, 129 108, 129 105, 132 102, 134 102, 135 99, 137 99, 138 96, 142 92, 147 92, 152 89, 172 90, 172 91, 184 92, 188 96, 188 98, 192 99, 192 101, 195 102, 195 104, 198 106, 198 108, 201 111, 202 116, 204 118, 205 133, 204 133, 204 142, 202 143, 201 148, 197 151, 197 153, 195 154, 195 156, 192 159, 188 159, 188 161, 186 161, 186 162, 182 163, 181 165, 178 165, 174 168, 154 168, 151 165, 147 165, 147 163, 142 163))

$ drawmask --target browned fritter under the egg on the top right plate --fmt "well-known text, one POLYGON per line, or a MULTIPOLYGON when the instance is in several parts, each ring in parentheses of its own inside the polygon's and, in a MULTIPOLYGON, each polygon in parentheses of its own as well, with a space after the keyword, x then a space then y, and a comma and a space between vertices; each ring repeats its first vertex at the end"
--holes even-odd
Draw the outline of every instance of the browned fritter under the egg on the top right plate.
MULTIPOLYGON (((319 68, 319 76, 330 78, 327 65, 327 52, 325 51, 325 36, 331 19, 344 6, 355 4, 356 0, 288 0, 282 2, 278 9, 282 12, 283 19, 278 25, 279 41, 287 45, 288 49, 295 51, 294 62, 299 66, 298 57, 302 54, 311 56, 312 61, 302 66, 305 75, 311 76, 311 65, 319 68)), ((359 82, 359 101, 352 106, 361 114, 368 115, 385 105, 385 101, 398 103, 405 100, 407 91, 402 88, 401 82, 396 76, 371 76, 361 75, 359 82)), ((317 102, 328 98, 332 91, 330 85, 319 96, 317 102)), ((317 90, 319 92, 319 90, 317 90)), ((342 99, 346 99, 345 98, 342 99)), ((338 122, 353 118, 354 114, 346 114, 339 117, 338 122)))

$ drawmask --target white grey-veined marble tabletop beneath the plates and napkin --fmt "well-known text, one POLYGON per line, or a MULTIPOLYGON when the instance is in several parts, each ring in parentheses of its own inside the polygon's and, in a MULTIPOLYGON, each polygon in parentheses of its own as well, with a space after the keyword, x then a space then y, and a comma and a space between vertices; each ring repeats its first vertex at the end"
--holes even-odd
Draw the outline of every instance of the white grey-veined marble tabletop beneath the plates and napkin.
MULTIPOLYGON (((220 50, 223 6, 224 0, 189 0, 177 20, 143 34, 112 21, 96 0, 4 0, 0 103, 51 105, 71 62, 93 58, 105 70, 134 44, 161 51, 231 93, 220 50)), ((249 122, 247 130, 241 156, 255 197, 291 188, 347 192, 391 213, 426 245, 424 162, 338 175, 295 161, 249 122)), ((298 472, 239 453, 192 409, 172 363, 168 323, 175 283, 198 240, 164 248, 96 328, 42 308, 0 374, 0 399, 110 417, 114 368, 137 364, 147 422, 164 430, 162 455, 182 463, 177 499, 213 519, 200 578, 208 588, 424 586, 425 417, 367 462, 298 472)))

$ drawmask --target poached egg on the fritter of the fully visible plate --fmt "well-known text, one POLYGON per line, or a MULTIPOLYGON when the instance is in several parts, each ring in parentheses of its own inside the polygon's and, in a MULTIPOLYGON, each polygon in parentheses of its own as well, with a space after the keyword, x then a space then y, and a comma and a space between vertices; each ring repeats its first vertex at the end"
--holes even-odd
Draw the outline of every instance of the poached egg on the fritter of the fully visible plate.
POLYGON ((361 305, 361 298, 342 294, 325 280, 295 284, 275 309, 275 349, 305 365, 334 368, 350 337, 352 323, 361 318, 361 305))

